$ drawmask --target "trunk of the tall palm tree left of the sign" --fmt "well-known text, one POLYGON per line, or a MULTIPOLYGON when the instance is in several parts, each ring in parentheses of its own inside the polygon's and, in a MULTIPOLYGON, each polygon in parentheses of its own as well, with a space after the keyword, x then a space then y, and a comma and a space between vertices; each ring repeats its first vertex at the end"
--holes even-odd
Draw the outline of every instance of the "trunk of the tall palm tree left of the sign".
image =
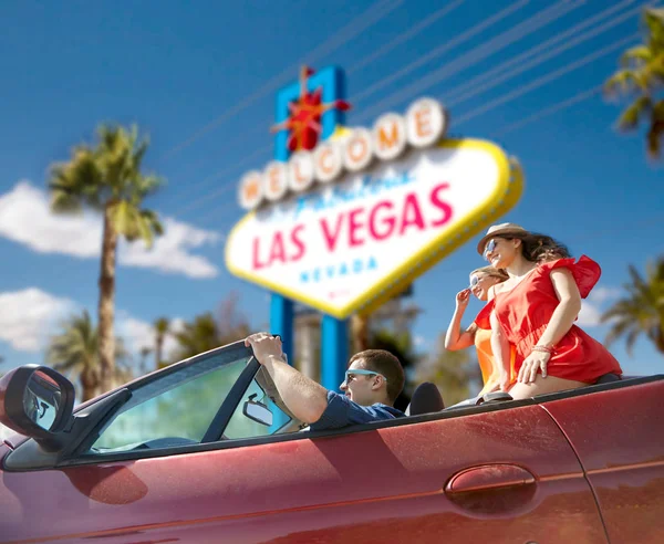
POLYGON ((104 210, 104 233, 102 243, 102 269, 100 273, 100 366, 101 386, 105 393, 113 388, 115 375, 115 336, 113 334, 113 314, 115 299, 115 253, 117 233, 111 220, 111 206, 104 210))

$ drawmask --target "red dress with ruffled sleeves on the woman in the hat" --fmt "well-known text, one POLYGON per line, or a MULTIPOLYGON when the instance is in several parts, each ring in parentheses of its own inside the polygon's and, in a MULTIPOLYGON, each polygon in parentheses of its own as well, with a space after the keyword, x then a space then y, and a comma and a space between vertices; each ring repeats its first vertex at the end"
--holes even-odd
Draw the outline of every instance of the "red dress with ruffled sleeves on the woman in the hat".
MULTIPOLYGON (((495 312, 507 339, 516 348, 516 373, 538 343, 560 302, 550 278, 551 271, 558 268, 572 272, 582 299, 588 296, 602 273, 600 265, 585 255, 578 262, 559 259, 540 264, 512 290, 498 293, 475 321, 481 328, 491 328, 489 315, 495 312)), ((572 325, 553 349, 547 365, 551 376, 594 384, 604 374, 622 374, 613 355, 577 325, 572 325)))

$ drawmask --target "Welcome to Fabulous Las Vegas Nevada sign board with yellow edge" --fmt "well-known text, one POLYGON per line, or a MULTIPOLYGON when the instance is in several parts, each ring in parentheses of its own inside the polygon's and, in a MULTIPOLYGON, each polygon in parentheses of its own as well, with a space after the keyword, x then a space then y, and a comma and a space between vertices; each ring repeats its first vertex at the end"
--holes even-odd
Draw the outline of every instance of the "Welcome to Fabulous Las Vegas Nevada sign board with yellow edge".
POLYGON ((338 318, 403 291, 522 192, 515 159, 490 142, 446 139, 446 127, 443 107, 422 98, 247 174, 229 271, 338 318))

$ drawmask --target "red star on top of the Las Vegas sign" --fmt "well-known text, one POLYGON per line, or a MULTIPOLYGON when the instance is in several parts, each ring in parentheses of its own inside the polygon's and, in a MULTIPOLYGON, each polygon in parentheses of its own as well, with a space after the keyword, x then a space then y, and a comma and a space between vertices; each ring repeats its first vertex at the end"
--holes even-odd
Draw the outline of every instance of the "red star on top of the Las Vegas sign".
POLYGON ((322 104, 322 87, 313 92, 307 88, 308 79, 314 74, 314 70, 302 66, 300 70, 300 96, 297 101, 288 105, 290 116, 283 123, 273 125, 270 132, 290 130, 287 147, 290 151, 300 149, 313 149, 319 142, 322 127, 321 116, 332 108, 346 112, 351 105, 345 101, 334 101, 329 104, 322 104))

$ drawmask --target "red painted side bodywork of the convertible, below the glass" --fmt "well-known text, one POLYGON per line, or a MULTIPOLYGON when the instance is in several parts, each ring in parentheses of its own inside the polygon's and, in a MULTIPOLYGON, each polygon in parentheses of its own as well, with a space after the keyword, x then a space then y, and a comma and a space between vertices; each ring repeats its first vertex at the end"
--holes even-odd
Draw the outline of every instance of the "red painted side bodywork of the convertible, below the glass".
POLYGON ((664 542, 663 394, 3 472, 0 542, 664 542))

